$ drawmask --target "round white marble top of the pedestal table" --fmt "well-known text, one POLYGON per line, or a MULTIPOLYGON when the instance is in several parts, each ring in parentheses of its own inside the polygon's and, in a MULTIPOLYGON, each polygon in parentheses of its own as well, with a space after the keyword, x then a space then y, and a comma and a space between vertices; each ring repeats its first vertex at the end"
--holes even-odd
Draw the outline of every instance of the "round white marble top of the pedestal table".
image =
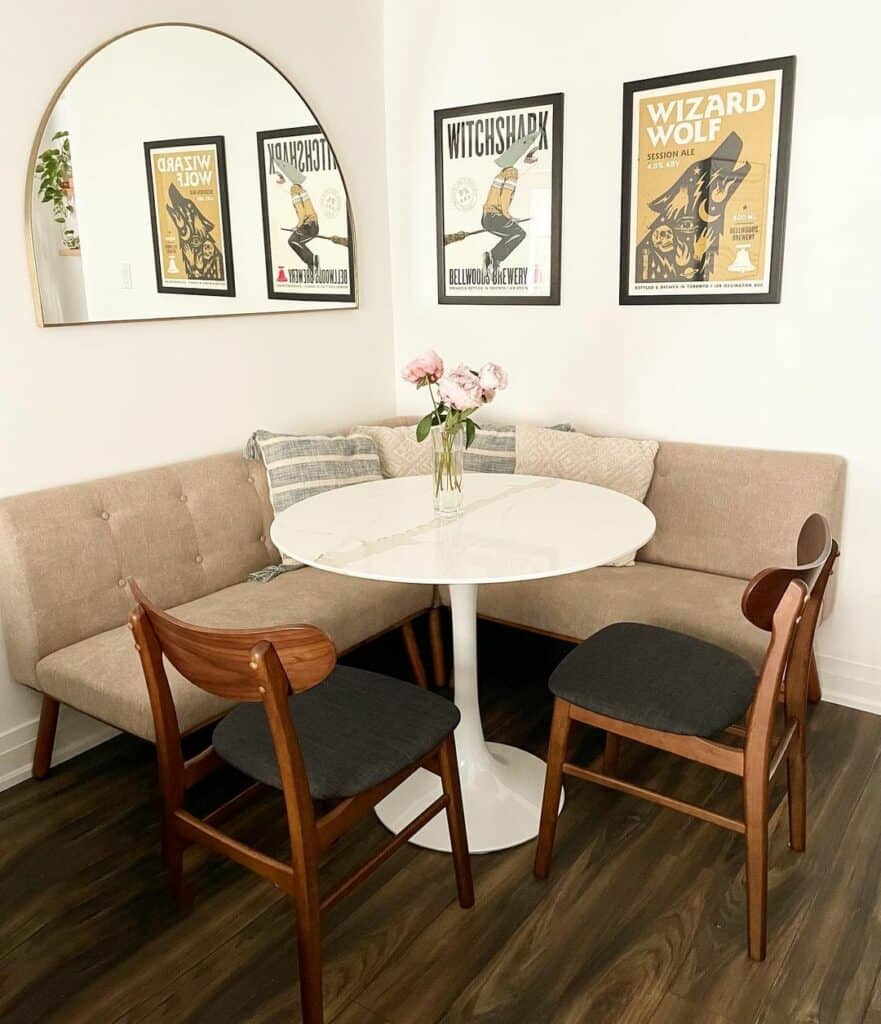
POLYGON ((397 583, 508 583, 615 561, 655 532, 652 512, 605 487, 466 473, 465 508, 435 517, 428 476, 339 487, 280 513, 276 547, 307 565, 397 583))

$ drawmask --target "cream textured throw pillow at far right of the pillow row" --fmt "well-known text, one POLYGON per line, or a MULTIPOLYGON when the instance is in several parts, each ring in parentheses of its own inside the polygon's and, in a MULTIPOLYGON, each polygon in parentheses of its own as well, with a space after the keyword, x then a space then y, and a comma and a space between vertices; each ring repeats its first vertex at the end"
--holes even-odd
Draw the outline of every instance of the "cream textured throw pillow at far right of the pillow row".
MULTIPOLYGON (((522 426, 517 428, 516 451, 517 473, 595 483, 641 502, 655 472, 658 441, 522 426)), ((635 554, 611 564, 632 565, 635 554)))

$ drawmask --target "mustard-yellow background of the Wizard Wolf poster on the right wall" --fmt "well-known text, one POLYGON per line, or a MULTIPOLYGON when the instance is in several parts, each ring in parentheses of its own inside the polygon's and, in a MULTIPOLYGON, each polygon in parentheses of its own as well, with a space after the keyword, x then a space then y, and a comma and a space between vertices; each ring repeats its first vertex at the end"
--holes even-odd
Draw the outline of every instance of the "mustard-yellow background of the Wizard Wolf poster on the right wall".
MULTIPOLYGON (((634 113, 638 127, 633 154, 635 204, 631 224, 631 274, 635 285, 652 283, 658 291, 687 289, 688 281, 677 276, 681 272, 676 266, 677 256, 684 261, 688 246, 696 245, 699 251, 702 247, 715 249, 715 255, 710 252, 706 257, 707 271, 703 275, 696 271, 691 284, 697 288, 702 281, 732 282, 744 287, 750 287, 748 283, 764 282, 773 212, 770 203, 777 145, 778 81, 761 76, 721 80, 701 87, 677 86, 670 91, 640 96, 634 113), (739 112, 739 105, 747 105, 747 90, 755 89, 764 91, 761 109, 739 112), (732 93, 740 94, 740 102, 737 96, 730 98, 732 93), (711 97, 718 97, 718 100, 713 99, 708 108, 711 97), (682 105, 676 104, 677 100, 682 105), (659 111, 671 103, 674 105, 665 121, 659 111), (710 116, 696 116, 702 112, 710 116), (714 123, 716 114, 718 123, 714 123), (671 125, 675 128, 668 136, 658 134, 659 128, 666 131, 671 125), (649 134, 653 128, 656 131, 654 138, 649 134), (713 138, 707 137, 710 132, 714 133, 713 138), (700 202, 695 202, 695 180, 688 178, 687 172, 696 163, 712 157, 730 133, 741 142, 735 171, 742 170, 745 164, 749 165, 749 170, 736 186, 729 186, 729 197, 723 196, 723 187, 712 193, 721 202, 709 204, 713 215, 712 223, 708 224, 705 219, 707 207, 702 210, 700 202), (659 211, 662 197, 668 202, 662 203, 663 208, 659 211), (662 259, 666 257, 673 263, 670 278, 665 278, 667 271, 655 259, 659 247, 662 259)), ((737 139, 730 145, 729 152, 733 152, 737 139)))

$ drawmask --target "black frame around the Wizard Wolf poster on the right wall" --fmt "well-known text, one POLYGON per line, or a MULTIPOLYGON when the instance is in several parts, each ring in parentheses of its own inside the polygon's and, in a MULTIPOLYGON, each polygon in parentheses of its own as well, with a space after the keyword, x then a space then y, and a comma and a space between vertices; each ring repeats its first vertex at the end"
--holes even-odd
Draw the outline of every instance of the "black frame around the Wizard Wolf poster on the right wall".
POLYGON ((795 92, 796 58, 774 57, 743 63, 707 68, 702 71, 678 75, 664 75, 624 83, 621 158, 621 251, 619 273, 619 303, 621 305, 683 305, 730 304, 743 302, 779 303, 783 283, 783 257, 786 237, 786 208, 789 190, 790 156, 792 151, 793 98, 795 92), (729 293, 643 293, 630 291, 631 240, 631 172, 633 163, 633 105, 634 96, 652 89, 668 86, 706 83, 716 79, 733 78, 754 73, 775 72, 781 75, 781 97, 778 123, 777 167, 774 175, 774 208, 771 220, 770 256, 768 260, 767 291, 729 293))

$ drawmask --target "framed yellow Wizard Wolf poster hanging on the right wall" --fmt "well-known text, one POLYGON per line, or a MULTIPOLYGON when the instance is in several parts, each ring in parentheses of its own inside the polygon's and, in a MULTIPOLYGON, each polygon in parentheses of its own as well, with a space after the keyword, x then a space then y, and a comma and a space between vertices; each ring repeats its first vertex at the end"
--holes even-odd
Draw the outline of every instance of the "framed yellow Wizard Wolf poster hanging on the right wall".
POLYGON ((795 57, 624 86, 625 305, 780 302, 795 57))

